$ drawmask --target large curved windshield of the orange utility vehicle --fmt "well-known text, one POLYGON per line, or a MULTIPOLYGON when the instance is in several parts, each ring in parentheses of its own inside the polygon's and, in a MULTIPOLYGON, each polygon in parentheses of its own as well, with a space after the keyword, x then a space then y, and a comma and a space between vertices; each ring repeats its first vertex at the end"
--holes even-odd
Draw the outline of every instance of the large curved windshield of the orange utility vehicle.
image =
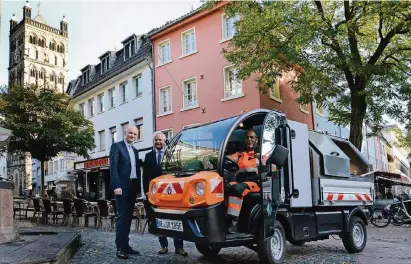
POLYGON ((217 170, 221 144, 238 116, 181 131, 167 147, 163 171, 190 173, 217 170))

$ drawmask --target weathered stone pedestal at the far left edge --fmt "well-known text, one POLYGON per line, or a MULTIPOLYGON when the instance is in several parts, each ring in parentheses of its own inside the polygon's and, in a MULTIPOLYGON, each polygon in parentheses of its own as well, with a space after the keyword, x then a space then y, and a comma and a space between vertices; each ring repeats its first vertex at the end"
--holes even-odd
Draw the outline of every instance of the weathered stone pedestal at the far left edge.
POLYGON ((0 181, 0 244, 13 241, 13 184, 0 181))

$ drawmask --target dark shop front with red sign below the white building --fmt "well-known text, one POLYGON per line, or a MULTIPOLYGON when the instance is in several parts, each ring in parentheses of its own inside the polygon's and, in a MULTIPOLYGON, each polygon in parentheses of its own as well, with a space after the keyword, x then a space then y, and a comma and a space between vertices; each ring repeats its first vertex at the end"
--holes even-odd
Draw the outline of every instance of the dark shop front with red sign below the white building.
POLYGON ((74 163, 76 196, 95 201, 111 200, 113 191, 110 188, 110 159, 108 156, 74 163))

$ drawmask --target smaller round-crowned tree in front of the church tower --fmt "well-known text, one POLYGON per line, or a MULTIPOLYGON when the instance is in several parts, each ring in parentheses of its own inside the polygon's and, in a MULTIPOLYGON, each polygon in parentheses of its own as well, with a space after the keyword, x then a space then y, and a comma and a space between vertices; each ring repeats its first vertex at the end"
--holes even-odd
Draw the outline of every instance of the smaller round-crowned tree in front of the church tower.
POLYGON ((0 115, 0 126, 13 131, 7 152, 30 153, 39 160, 42 185, 45 162, 61 152, 89 158, 88 151, 95 147, 93 124, 69 107, 67 94, 14 85, 0 94, 0 115))

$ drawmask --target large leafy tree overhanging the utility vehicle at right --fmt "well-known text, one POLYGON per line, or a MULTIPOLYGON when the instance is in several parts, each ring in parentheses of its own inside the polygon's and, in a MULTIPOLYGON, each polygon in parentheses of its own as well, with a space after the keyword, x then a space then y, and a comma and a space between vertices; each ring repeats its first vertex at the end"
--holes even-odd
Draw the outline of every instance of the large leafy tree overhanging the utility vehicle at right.
POLYGON ((358 149, 365 120, 382 128, 385 115, 411 128, 410 3, 236 1, 224 12, 241 19, 223 53, 240 78, 258 73, 260 91, 295 73, 299 103, 327 105, 358 149))

